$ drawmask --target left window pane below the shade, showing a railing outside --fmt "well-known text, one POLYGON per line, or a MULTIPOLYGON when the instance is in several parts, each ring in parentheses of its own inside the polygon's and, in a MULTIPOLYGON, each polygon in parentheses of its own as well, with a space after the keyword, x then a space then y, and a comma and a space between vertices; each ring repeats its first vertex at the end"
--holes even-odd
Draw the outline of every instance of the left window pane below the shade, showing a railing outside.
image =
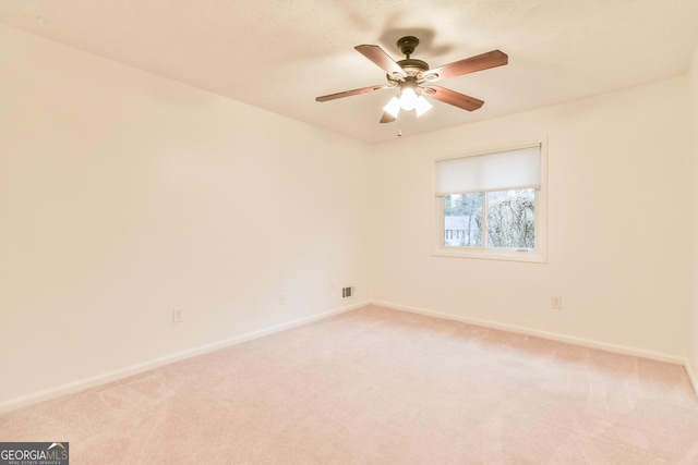
POLYGON ((482 247, 482 193, 444 197, 444 245, 482 247))

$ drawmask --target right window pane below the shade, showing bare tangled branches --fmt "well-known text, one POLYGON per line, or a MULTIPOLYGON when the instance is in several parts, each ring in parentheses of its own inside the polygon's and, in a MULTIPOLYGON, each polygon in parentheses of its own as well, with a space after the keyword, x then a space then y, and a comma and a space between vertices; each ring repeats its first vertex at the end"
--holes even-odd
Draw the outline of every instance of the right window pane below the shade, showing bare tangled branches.
POLYGON ((535 191, 486 194, 488 247, 535 248, 535 191))

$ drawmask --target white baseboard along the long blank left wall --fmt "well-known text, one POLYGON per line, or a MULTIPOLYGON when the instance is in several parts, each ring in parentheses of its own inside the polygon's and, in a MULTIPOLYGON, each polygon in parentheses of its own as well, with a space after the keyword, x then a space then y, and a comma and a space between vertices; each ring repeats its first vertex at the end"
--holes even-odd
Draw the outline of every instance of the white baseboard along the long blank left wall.
POLYGON ((61 397, 63 395, 72 394, 85 389, 94 388, 108 382, 124 379, 134 375, 139 375, 148 370, 152 370, 164 365, 168 365, 174 362, 183 360, 186 358, 195 357, 197 355, 207 354, 209 352, 219 351, 231 345, 240 344, 253 339, 263 338, 275 332, 284 331, 287 329, 296 328, 302 325, 321 320, 333 315, 344 314, 360 307, 369 305, 370 302, 360 302, 357 304, 348 305, 345 307, 335 308, 328 311, 323 311, 310 317, 299 318, 292 321, 288 321, 281 325, 276 325, 270 328, 261 329, 258 331, 248 332, 245 334, 236 335, 230 339, 217 341, 210 344, 194 347, 188 351, 178 352, 176 354, 167 355, 165 357, 155 358, 144 362, 142 364, 132 365, 129 367, 120 368, 113 371, 97 375, 91 378, 76 380, 67 384, 58 386, 56 388, 46 389, 44 391, 33 392, 31 394, 22 395, 20 397, 10 399, 9 401, 0 402, 0 414, 15 411, 17 408, 26 407, 32 404, 36 404, 44 401, 50 401, 51 399, 61 397))

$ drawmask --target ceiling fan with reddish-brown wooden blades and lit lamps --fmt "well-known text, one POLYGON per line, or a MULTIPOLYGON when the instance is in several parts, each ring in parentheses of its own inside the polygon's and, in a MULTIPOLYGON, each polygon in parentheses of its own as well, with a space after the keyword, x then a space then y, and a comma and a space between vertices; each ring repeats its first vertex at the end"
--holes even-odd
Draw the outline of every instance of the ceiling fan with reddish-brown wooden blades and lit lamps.
POLYGON ((473 111, 482 107, 484 101, 432 85, 432 83, 448 77, 474 73, 476 71, 502 66, 509 61, 506 53, 500 50, 492 50, 443 66, 430 69, 426 62, 410 58, 418 45, 419 39, 417 37, 407 36, 400 38, 397 41, 397 46, 402 54, 405 54, 405 60, 397 62, 378 46, 361 45, 354 47, 359 53, 363 54, 387 73, 387 84, 329 94, 317 97, 315 100, 328 101, 353 95, 368 94, 384 88, 399 87, 398 97, 393 97, 393 99, 383 107, 384 112, 381 118, 381 123, 389 123, 397 120, 400 109, 407 111, 414 110, 418 117, 422 115, 432 108, 424 96, 462 108, 464 110, 473 111))

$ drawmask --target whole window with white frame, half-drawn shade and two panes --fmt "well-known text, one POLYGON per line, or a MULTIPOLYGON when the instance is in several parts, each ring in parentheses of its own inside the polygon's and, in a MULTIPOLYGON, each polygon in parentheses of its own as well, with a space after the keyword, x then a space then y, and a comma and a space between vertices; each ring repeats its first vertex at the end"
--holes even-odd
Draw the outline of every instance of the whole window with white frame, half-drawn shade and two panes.
POLYGON ((541 143, 437 160, 436 255, 544 261, 544 171, 541 143))

